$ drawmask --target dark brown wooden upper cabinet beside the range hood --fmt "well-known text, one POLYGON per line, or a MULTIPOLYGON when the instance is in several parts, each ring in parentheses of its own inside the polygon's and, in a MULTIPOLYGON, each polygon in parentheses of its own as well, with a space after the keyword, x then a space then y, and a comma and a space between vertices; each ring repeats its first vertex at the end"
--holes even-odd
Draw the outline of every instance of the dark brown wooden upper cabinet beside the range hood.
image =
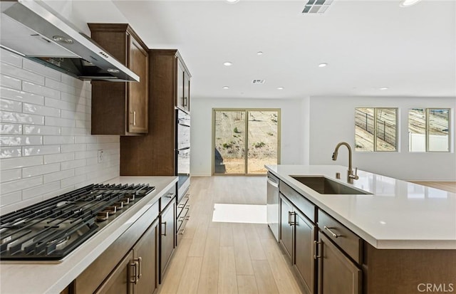
POLYGON ((91 38, 140 76, 140 82, 92 81, 92 135, 148 132, 147 46, 127 23, 88 23, 91 38))

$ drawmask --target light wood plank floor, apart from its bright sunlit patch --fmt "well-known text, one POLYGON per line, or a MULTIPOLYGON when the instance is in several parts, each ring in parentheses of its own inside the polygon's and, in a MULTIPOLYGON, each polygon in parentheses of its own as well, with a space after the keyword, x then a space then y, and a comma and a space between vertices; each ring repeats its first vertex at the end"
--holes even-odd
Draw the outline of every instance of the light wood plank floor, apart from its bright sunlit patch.
POLYGON ((192 177, 190 220, 159 293, 301 293, 268 226, 213 222, 215 203, 266 204, 266 177, 192 177))

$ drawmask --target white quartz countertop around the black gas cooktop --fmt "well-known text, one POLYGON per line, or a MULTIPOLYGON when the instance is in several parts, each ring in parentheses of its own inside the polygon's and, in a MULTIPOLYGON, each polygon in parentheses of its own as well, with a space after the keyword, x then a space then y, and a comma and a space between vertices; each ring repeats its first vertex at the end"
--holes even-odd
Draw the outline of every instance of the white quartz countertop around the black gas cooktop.
POLYGON ((1 294, 60 293, 177 182, 177 177, 117 177, 105 183, 150 184, 155 190, 120 214, 63 261, 0 262, 1 294))

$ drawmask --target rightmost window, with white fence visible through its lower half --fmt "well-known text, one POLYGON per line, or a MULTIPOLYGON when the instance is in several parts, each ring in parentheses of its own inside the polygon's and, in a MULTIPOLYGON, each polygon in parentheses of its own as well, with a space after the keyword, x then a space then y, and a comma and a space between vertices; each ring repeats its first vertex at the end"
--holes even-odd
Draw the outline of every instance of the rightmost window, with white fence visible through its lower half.
POLYGON ((410 152, 450 152, 450 109, 410 108, 408 149, 410 152))

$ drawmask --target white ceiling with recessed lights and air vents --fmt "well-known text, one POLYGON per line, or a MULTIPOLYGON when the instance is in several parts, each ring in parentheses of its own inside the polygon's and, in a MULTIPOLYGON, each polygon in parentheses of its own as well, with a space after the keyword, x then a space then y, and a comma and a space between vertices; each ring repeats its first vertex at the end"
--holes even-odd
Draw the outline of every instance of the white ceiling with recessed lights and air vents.
POLYGON ((408 8, 400 0, 334 0, 318 15, 301 14, 306 2, 74 0, 73 14, 128 21, 150 48, 179 49, 192 97, 456 97, 455 0, 408 8))

